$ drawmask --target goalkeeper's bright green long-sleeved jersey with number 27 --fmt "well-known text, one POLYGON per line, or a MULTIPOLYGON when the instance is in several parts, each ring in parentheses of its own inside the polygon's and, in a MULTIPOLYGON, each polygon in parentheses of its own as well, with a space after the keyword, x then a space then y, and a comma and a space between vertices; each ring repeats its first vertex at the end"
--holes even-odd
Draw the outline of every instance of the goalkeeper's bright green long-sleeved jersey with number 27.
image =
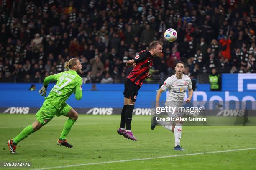
POLYGON ((48 85, 50 81, 57 81, 57 83, 45 99, 51 102, 56 109, 59 109, 73 92, 77 100, 82 98, 82 78, 76 71, 68 70, 47 76, 43 84, 48 85))

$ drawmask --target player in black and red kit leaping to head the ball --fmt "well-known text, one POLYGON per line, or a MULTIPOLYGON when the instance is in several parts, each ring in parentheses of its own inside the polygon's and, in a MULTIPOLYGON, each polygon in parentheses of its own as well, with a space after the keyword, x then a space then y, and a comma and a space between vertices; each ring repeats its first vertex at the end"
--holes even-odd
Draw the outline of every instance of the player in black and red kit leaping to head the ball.
POLYGON ((149 45, 149 51, 144 50, 138 53, 132 60, 127 61, 126 65, 134 67, 130 74, 125 79, 124 105, 121 113, 121 125, 117 130, 118 134, 125 138, 137 140, 131 132, 131 120, 133 117, 133 108, 138 95, 138 90, 141 88, 146 77, 151 77, 148 74, 153 65, 153 57, 159 57, 162 53, 163 46, 158 41, 153 41, 149 45))

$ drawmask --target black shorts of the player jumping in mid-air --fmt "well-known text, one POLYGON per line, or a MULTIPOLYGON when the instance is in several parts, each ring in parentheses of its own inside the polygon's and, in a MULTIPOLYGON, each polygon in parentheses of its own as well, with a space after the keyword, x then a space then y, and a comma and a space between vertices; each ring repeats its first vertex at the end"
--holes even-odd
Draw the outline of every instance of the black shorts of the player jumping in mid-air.
POLYGON ((140 90, 141 86, 134 84, 128 78, 125 79, 124 84, 125 84, 125 90, 123 92, 124 97, 135 101, 138 95, 138 90, 140 90))

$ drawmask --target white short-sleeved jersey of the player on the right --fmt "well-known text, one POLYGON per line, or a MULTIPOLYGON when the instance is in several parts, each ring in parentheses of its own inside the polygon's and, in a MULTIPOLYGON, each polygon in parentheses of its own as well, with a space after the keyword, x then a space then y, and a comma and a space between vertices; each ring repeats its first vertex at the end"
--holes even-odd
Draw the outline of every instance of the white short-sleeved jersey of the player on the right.
POLYGON ((161 87, 163 90, 169 90, 169 95, 166 101, 173 101, 182 105, 187 89, 192 89, 191 79, 187 75, 182 75, 181 79, 178 79, 176 75, 172 75, 167 78, 161 87))

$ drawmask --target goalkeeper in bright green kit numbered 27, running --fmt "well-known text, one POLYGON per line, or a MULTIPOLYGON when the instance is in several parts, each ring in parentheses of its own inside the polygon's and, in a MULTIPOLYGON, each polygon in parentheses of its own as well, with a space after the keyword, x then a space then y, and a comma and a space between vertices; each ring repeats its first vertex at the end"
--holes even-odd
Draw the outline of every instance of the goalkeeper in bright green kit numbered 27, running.
POLYGON ((76 122, 78 113, 66 103, 66 100, 73 92, 77 100, 82 98, 82 78, 78 75, 81 73, 82 65, 77 58, 72 58, 65 63, 65 68, 69 70, 50 75, 44 79, 43 87, 39 90, 39 93, 45 96, 45 101, 40 110, 36 113, 36 121, 23 129, 15 138, 8 140, 10 153, 16 153, 16 145, 21 140, 46 125, 54 116, 60 115, 67 116, 69 119, 65 122, 57 145, 68 148, 73 147, 71 144, 67 143, 66 137, 72 125, 76 122), (46 97, 46 89, 50 81, 57 82, 51 89, 50 94, 46 97))

